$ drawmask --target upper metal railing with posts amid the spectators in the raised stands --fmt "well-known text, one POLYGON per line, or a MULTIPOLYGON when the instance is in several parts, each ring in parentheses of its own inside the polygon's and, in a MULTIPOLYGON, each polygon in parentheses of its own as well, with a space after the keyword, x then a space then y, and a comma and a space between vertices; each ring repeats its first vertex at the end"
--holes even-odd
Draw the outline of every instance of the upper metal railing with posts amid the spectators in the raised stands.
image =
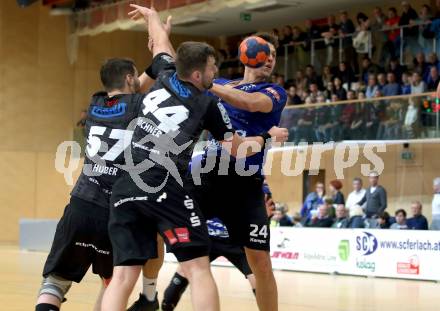
MULTIPOLYGON (((423 25, 428 25, 429 23, 418 23, 418 24, 414 24, 414 25, 405 25, 405 26, 399 26, 399 27, 385 27, 381 30, 376 30, 376 31, 372 31, 372 30, 366 30, 366 32, 368 32, 368 57, 371 59, 373 56, 373 39, 372 39, 372 35, 373 33, 386 33, 386 32, 390 32, 393 30, 399 30, 400 35, 400 45, 399 45, 399 57, 400 57, 400 64, 403 65, 404 64, 404 51, 405 51, 405 37, 404 37, 404 29, 405 28, 413 28, 413 27, 419 27, 419 26, 423 26, 423 25)), ((337 40, 338 41, 338 60, 339 62, 341 62, 344 59, 344 47, 343 47, 343 40, 345 38, 353 38, 354 36, 356 36, 359 33, 359 31, 352 33, 352 34, 346 34, 346 35, 338 35, 338 36, 332 36, 331 39, 337 40)), ((386 35, 386 34, 385 34, 386 35)), ((426 39, 428 40, 428 39, 426 39)), ((434 36, 434 38, 431 39, 432 40, 432 51, 436 52, 437 51, 437 40, 434 36)), ((290 73, 289 73, 289 57, 291 56, 292 53, 289 53, 289 48, 291 47, 295 47, 298 45, 298 43, 300 44, 304 44, 304 45, 309 45, 310 46, 310 64, 311 65, 315 65, 316 64, 316 45, 320 42, 324 42, 325 43, 326 38, 319 38, 319 39, 312 39, 312 40, 308 40, 308 41, 302 41, 302 42, 296 42, 296 44, 285 44, 283 45, 284 48, 284 76, 285 77, 289 77, 290 73)))

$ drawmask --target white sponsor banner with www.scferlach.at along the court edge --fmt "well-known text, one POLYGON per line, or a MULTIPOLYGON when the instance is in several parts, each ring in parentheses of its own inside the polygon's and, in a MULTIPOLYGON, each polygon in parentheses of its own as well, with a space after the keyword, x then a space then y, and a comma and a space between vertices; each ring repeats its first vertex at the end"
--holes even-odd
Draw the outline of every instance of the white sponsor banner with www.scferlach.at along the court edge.
POLYGON ((440 231, 272 228, 271 257, 274 269, 438 281, 440 231))

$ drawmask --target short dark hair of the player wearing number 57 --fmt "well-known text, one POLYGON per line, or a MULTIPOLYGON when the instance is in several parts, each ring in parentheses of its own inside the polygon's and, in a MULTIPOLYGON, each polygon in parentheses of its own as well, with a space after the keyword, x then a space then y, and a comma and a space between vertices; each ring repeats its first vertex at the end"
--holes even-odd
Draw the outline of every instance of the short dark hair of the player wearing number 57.
POLYGON ((122 89, 125 85, 125 76, 135 75, 135 64, 128 58, 110 58, 100 70, 101 82, 107 91, 122 89))

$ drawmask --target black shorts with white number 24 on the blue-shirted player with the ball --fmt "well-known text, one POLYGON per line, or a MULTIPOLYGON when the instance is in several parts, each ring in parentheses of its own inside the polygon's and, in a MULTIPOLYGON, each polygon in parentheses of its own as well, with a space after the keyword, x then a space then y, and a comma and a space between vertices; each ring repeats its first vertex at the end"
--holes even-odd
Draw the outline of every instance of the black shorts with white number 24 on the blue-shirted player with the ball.
POLYGON ((204 217, 220 218, 234 245, 270 250, 262 177, 208 173, 202 175, 201 185, 190 187, 204 217))

